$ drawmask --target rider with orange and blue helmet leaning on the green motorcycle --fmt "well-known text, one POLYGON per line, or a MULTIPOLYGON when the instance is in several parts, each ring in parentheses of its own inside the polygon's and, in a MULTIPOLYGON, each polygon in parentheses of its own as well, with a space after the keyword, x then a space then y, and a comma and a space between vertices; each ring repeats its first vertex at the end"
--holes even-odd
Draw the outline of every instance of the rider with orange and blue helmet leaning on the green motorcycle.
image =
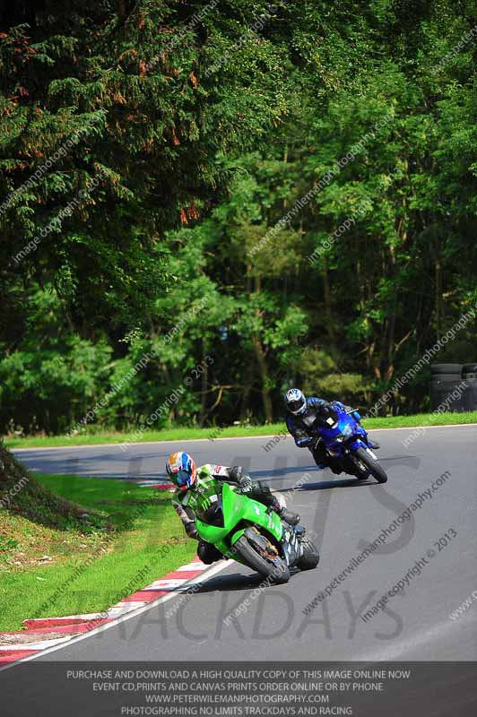
POLYGON ((201 518, 202 516, 201 503, 204 502, 204 498, 205 503, 207 503, 206 498, 210 495, 214 480, 238 484, 240 493, 246 494, 247 497, 266 505, 269 510, 279 514, 282 520, 291 525, 299 523, 299 515, 291 513, 286 507, 282 507, 277 498, 273 496, 270 488, 254 485, 242 466, 236 465, 229 468, 223 465, 205 463, 197 468, 191 455, 179 451, 169 455, 166 471, 172 483, 176 486, 172 497, 172 505, 182 523, 184 523, 188 537, 199 541, 197 556, 206 565, 211 565, 223 557, 220 550, 215 548, 212 543, 199 538, 195 525, 195 518, 201 518))

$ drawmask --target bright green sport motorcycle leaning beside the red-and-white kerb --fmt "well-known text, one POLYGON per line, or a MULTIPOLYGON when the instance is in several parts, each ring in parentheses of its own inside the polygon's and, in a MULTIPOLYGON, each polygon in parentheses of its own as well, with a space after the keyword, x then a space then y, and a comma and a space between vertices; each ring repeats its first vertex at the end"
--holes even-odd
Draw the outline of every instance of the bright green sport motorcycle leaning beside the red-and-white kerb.
POLYGON ((292 527, 265 505, 241 495, 228 483, 217 483, 204 496, 195 524, 200 538, 223 556, 270 578, 288 583, 292 568, 311 570, 318 551, 300 525, 292 527))

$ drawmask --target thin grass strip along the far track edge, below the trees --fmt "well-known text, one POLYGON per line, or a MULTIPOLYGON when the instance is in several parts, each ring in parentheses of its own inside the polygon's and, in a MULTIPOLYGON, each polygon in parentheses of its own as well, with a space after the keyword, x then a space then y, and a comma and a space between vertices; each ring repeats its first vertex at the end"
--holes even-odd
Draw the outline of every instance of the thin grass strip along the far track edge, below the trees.
MULTIPOLYGON (((418 426, 451 426, 455 423, 477 423, 477 411, 466 413, 420 413, 415 416, 393 416, 390 418, 366 419, 363 425, 373 428, 416 428, 418 426)), ((231 438, 247 436, 275 436, 285 430, 284 423, 270 423, 266 426, 230 426, 228 428, 168 428, 159 431, 145 431, 135 443, 144 441, 183 441, 197 438, 231 438)), ((85 432, 81 436, 31 436, 26 438, 5 438, 7 448, 48 448, 62 445, 92 445, 124 443, 130 440, 134 431, 85 432)))

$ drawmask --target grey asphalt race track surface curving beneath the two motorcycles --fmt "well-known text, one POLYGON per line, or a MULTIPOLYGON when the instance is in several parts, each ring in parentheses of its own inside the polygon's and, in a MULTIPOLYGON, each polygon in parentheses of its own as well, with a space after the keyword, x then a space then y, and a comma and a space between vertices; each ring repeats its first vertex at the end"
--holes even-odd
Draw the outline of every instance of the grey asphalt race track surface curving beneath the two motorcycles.
POLYGON ((449 616, 477 590, 477 427, 429 428, 406 448, 403 440, 410 434, 412 429, 372 433, 389 477, 384 486, 317 471, 308 451, 290 438, 268 452, 269 438, 130 445, 126 452, 118 445, 16 452, 32 470, 105 478, 157 480, 168 454, 181 448, 197 464, 244 465, 282 492, 316 534, 321 554, 316 570, 265 590, 257 590, 261 578, 247 568, 218 563, 186 600, 171 592, 136 617, 37 659, 475 661, 477 600, 461 617, 449 616), (428 490, 430 497, 423 498, 428 490), (317 592, 420 495, 422 505, 411 519, 304 614, 317 592), (445 533, 456 535, 443 547, 445 541, 438 545, 438 540, 445 533), (360 616, 422 557, 427 563, 421 574, 412 575, 384 611, 364 622, 360 616), (237 609, 239 617, 224 622, 237 609))

